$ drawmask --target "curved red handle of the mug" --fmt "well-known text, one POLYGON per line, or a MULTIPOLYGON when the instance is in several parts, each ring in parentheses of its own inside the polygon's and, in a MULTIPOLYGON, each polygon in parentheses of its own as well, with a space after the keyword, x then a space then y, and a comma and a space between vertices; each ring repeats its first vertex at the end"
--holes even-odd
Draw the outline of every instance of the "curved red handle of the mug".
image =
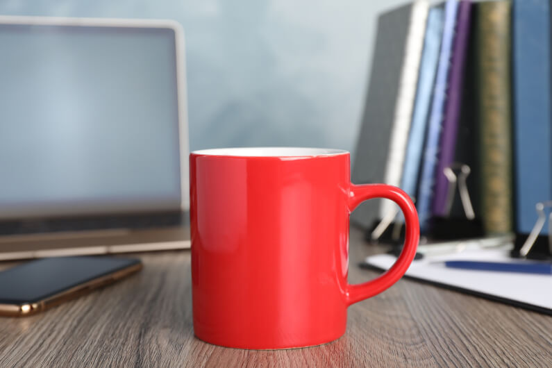
POLYGON ((414 203, 410 200, 410 196, 403 192, 398 187, 384 184, 351 184, 349 190, 349 213, 362 202, 373 198, 387 198, 399 205, 405 217, 406 236, 403 251, 396 259, 394 265, 383 275, 374 278, 374 280, 366 283, 346 286, 346 303, 350 306, 353 303, 370 298, 377 295, 383 290, 399 281, 408 267, 414 256, 419 242, 419 221, 418 214, 414 203))

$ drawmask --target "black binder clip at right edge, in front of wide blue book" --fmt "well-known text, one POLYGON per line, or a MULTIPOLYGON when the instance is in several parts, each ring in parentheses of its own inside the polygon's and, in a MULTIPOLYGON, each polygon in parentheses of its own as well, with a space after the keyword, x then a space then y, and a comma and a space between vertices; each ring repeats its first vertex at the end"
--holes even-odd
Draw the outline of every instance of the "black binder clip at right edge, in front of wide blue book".
POLYGON ((512 257, 534 260, 552 260, 552 212, 549 214, 549 235, 540 235, 546 224, 545 208, 551 208, 552 201, 539 202, 535 205, 537 221, 529 235, 517 233, 512 257))

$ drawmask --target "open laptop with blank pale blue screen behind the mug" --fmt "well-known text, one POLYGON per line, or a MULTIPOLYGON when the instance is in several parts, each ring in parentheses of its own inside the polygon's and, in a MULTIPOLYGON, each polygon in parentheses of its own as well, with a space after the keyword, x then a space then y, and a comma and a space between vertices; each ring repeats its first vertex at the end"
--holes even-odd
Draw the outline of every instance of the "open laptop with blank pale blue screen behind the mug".
POLYGON ((169 20, 0 17, 0 260, 190 247, 169 20))

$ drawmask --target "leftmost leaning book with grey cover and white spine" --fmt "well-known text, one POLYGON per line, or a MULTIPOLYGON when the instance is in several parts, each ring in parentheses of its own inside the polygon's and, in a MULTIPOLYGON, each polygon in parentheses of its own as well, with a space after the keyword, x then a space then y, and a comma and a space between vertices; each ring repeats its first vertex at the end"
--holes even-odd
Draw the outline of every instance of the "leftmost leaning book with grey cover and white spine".
MULTIPOLYGON (((353 183, 400 183, 428 9, 428 1, 415 1, 378 17, 365 111, 353 159, 353 183), (388 171, 390 165, 394 168, 388 171)), ((351 219, 369 227, 380 212, 383 210, 377 201, 367 201, 358 206, 351 219)))

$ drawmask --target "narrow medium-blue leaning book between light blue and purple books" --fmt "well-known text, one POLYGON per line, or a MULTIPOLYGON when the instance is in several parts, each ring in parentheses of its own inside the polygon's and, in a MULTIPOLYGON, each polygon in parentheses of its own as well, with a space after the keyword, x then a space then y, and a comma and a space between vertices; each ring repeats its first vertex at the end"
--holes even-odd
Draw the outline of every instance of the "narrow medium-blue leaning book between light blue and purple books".
POLYGON ((458 1, 447 0, 444 6, 444 24, 441 49, 439 53, 439 65, 435 76, 433 100, 426 135, 424 158, 421 165, 419 187, 416 207, 420 221, 421 233, 428 231, 431 217, 431 202, 433 201, 433 184, 435 179, 435 167, 437 166, 437 153, 440 143, 446 92, 451 65, 451 53, 454 42, 456 15, 458 1))

